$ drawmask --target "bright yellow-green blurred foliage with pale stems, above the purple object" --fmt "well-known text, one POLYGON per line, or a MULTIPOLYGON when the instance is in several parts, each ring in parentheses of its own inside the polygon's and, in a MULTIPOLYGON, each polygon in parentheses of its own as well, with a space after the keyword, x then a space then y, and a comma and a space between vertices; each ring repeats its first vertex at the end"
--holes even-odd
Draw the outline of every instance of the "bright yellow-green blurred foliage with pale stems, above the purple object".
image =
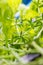
POLYGON ((37 52, 43 55, 43 2, 32 0, 27 9, 19 9, 16 4, 14 10, 14 3, 12 6, 11 3, 0 1, 0 59, 15 61, 25 54, 37 52))

